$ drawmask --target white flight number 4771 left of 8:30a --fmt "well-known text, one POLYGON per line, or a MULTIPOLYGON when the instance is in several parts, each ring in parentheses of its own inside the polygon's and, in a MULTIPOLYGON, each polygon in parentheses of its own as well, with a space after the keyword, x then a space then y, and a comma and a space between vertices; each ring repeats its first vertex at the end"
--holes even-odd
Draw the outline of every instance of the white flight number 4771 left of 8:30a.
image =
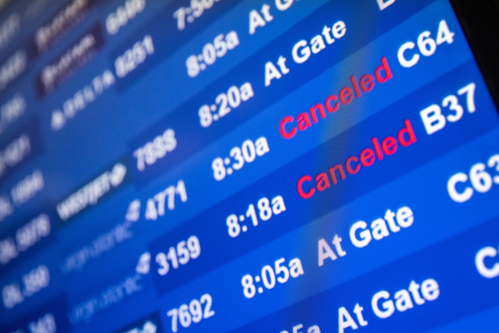
POLYGON ((179 180, 177 186, 171 185, 147 200, 146 220, 155 221, 158 216, 165 215, 165 204, 169 210, 174 210, 176 194, 180 196, 180 201, 187 202, 186 185, 183 180, 179 180))

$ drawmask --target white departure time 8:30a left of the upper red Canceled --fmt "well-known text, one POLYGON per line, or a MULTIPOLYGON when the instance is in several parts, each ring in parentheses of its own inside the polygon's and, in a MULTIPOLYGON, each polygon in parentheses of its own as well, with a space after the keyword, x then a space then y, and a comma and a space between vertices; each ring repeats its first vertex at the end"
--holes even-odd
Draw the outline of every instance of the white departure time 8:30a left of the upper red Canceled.
POLYGON ((217 157, 212 162, 213 177, 221 181, 226 175, 232 175, 234 170, 240 170, 245 162, 251 163, 254 161, 256 156, 263 156, 270 151, 268 147, 267 139, 262 136, 253 143, 250 139, 243 142, 241 148, 234 147, 231 149, 229 156, 236 160, 236 163, 232 164, 232 167, 225 168, 226 165, 231 164, 231 158, 217 157))

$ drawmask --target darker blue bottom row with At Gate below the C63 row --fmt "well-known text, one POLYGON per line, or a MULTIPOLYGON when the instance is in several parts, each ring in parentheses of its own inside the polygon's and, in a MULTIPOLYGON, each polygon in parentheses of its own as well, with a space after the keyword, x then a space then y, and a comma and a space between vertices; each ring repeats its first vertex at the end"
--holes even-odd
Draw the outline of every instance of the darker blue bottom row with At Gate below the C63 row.
POLYGON ((232 332, 302 325, 295 332, 416 333, 452 323, 498 305, 499 278, 483 277, 475 265, 478 251, 496 247, 498 237, 495 219, 232 332))

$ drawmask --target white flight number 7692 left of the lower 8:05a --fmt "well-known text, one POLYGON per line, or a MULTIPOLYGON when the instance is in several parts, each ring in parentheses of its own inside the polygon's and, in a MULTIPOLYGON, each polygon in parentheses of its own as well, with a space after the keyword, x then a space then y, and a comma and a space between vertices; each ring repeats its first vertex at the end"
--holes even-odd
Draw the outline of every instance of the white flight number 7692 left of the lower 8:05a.
POLYGON ((166 313, 168 317, 172 317, 172 332, 176 333, 178 331, 178 322, 184 328, 188 328, 192 323, 199 323, 202 319, 208 319, 215 315, 215 311, 212 310, 212 297, 210 294, 205 294, 201 296, 198 300, 194 299, 187 304, 182 304, 178 309, 172 309, 166 313), (202 308, 202 304, 205 304, 205 309, 202 308))

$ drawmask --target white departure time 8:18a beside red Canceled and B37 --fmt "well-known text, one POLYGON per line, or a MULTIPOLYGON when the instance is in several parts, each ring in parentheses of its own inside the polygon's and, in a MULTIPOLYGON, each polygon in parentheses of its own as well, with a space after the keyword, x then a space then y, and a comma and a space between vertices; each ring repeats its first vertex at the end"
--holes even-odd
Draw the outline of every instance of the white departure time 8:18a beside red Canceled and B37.
MULTIPOLYGON (((268 221, 272 217, 272 213, 274 215, 278 215, 286 210, 286 206, 284 205, 284 199, 278 195, 272 200, 268 200, 266 197, 258 200, 256 207, 258 207, 258 216, 262 221, 268 221), (272 206, 270 206, 270 203, 272 206)), ((246 217, 251 218, 251 222, 254 227, 258 225, 258 218, 256 216, 256 210, 254 209, 254 205, 250 204, 248 206, 248 210, 246 211, 246 217)), ((236 238, 241 234, 241 231, 247 232, 248 226, 245 224, 241 226, 239 222, 244 222, 246 220, 245 215, 241 214, 239 217, 236 214, 231 214, 227 217, 226 224, 229 228, 227 231, 229 236, 232 238, 236 238)))

